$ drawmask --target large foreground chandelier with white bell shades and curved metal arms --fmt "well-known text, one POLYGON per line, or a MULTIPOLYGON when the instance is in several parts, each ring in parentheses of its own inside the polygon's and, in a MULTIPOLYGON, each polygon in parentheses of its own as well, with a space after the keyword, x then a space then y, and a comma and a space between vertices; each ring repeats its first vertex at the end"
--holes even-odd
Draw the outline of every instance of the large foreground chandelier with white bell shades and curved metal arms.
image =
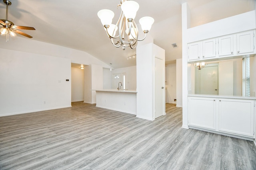
POLYGON ((134 22, 134 18, 139 9, 139 4, 132 0, 121 0, 121 4, 118 4, 117 6, 121 6, 122 12, 116 25, 112 24, 114 12, 111 10, 100 10, 98 12, 98 17, 100 18, 108 37, 111 39, 111 43, 115 47, 122 46, 123 50, 125 50, 126 47, 134 49, 136 48, 138 41, 142 41, 146 38, 146 34, 150 31, 154 19, 148 16, 140 18, 139 22, 145 36, 143 39, 138 39, 138 27, 134 22), (119 35, 116 36, 117 30, 119 35), (114 42, 114 39, 117 39, 117 41, 114 42))

